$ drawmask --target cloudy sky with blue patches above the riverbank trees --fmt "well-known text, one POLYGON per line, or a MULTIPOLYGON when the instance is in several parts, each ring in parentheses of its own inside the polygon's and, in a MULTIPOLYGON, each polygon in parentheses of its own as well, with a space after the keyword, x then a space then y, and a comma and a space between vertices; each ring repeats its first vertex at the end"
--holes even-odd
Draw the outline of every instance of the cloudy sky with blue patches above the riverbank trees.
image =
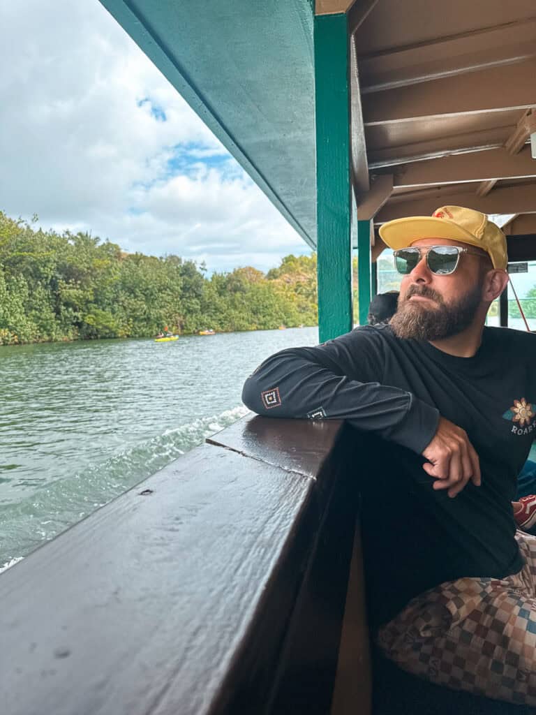
POLYGON ((98 0, 0 9, 0 210, 209 272, 309 247, 98 0))

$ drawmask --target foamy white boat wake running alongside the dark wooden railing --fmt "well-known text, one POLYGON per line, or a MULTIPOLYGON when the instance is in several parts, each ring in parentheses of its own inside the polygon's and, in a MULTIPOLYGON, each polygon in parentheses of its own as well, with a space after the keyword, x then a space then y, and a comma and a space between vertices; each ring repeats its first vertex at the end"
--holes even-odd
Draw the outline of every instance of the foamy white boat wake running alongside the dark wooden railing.
POLYGON ((48 483, 17 504, 0 507, 0 573, 247 413, 240 405, 166 430, 102 463, 89 464, 69 478, 48 483))

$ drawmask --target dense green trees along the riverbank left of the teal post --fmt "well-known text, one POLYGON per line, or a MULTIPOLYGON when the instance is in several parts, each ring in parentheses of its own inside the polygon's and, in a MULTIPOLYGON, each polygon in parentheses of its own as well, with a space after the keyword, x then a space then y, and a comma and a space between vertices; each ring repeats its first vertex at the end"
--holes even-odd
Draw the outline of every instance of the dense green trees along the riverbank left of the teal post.
POLYGON ((267 275, 206 270, 0 212, 0 345, 317 325, 316 255, 284 257, 267 275))

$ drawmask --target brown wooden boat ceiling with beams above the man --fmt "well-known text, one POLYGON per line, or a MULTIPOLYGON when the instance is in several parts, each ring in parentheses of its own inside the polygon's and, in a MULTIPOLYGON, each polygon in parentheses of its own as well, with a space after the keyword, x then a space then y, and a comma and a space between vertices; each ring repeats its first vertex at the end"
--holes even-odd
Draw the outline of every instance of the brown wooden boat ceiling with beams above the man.
POLYGON ((377 0, 352 46, 358 217, 462 204, 536 234, 534 0, 377 0))

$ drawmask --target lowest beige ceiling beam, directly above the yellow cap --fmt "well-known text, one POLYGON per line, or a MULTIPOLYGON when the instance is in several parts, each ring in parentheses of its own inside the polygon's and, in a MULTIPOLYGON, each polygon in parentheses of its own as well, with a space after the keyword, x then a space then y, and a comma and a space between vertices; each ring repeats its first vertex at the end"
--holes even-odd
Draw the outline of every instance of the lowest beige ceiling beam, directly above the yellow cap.
POLYGON ((429 190, 420 197, 421 193, 415 192, 410 196, 399 194, 396 199, 391 197, 378 212, 375 221, 390 221, 403 216, 430 216, 437 207, 446 204, 466 206, 486 214, 536 213, 536 183, 499 187, 484 197, 459 189, 453 192, 452 187, 429 190))

